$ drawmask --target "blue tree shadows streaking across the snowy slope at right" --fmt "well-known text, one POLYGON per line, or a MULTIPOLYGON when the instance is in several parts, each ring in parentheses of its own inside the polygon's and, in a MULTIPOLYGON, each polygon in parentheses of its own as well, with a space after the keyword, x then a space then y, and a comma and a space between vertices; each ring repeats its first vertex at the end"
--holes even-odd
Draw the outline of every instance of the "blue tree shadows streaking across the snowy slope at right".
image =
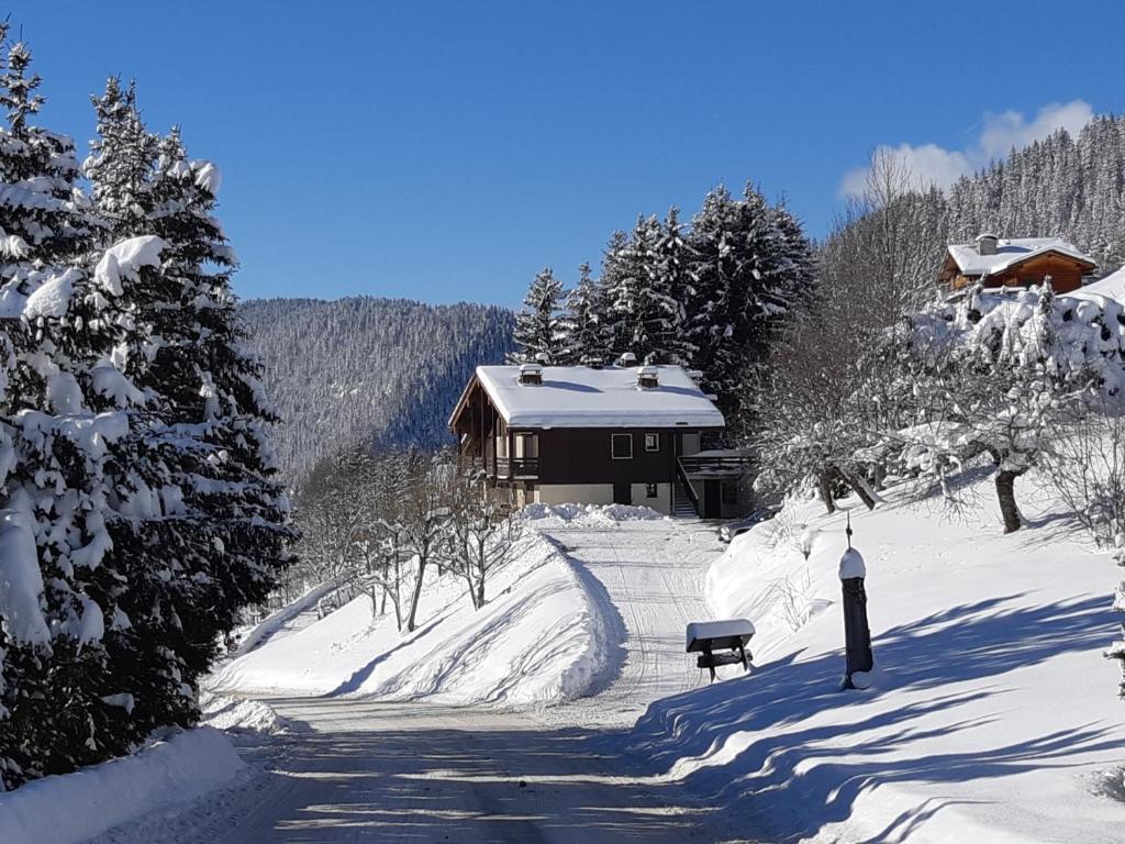
MULTIPOLYGON (((781 839, 813 835, 852 815, 855 800, 885 783, 966 782, 1009 776, 1051 765, 1077 752, 1114 751, 1119 736, 1087 725, 1022 742, 975 747, 971 753, 932 753, 896 757, 907 743, 938 742, 955 733, 999 721, 1002 690, 989 684, 1020 666, 1073 652, 1098 650, 1116 619, 1109 599, 1081 598, 1040 607, 1012 607, 1019 595, 954 607, 886 630, 874 641, 876 666, 891 666, 881 689, 840 692, 843 653, 808 662, 788 655, 756 668, 750 676, 685 692, 654 703, 630 736, 630 749, 646 757, 654 773, 674 771, 677 761, 702 757, 728 742, 732 757, 688 773, 684 780, 709 801, 745 803, 763 824, 778 826, 773 811, 756 802, 780 797, 794 807, 781 839), (965 683, 943 693, 948 684, 965 683), (928 692, 891 710, 872 711, 891 689, 928 692), (939 726, 926 716, 998 698, 996 715, 939 726), (848 715, 854 711, 854 717, 848 715), (796 725, 803 726, 794 729, 796 725), (842 755, 848 758, 836 761, 842 755)), ((919 748, 921 745, 918 745, 919 748)), ((903 812, 871 841, 900 839, 950 801, 926 801, 903 812)), ((740 808, 740 811, 742 809, 740 808)))

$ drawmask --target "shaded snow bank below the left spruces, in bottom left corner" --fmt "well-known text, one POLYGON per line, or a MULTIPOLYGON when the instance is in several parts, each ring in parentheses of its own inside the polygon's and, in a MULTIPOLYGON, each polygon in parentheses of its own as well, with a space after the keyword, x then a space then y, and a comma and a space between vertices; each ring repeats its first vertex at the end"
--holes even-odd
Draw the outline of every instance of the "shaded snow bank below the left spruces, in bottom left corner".
POLYGON ((45 776, 0 794, 3 844, 78 844, 112 826, 187 803, 243 770, 209 727, 177 733, 134 756, 45 776))

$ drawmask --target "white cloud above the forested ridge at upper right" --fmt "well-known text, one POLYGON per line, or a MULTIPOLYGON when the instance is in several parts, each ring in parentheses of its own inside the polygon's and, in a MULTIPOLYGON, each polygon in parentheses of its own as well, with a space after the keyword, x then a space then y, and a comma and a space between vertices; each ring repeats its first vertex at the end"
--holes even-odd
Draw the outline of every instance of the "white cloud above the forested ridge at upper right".
MULTIPOLYGON (((962 176, 968 176, 1001 159, 1012 149, 1020 150, 1032 142, 1042 140, 1056 129, 1066 129, 1072 135, 1094 119, 1094 109, 1083 100, 1056 102, 1044 106, 1028 120, 1019 111, 1002 111, 984 116, 984 124, 976 141, 965 150, 946 150, 937 144, 881 145, 876 154, 890 153, 900 161, 919 185, 936 185, 947 188, 962 176)), ((856 168, 845 173, 840 181, 842 197, 861 196, 864 191, 867 169, 856 168)))

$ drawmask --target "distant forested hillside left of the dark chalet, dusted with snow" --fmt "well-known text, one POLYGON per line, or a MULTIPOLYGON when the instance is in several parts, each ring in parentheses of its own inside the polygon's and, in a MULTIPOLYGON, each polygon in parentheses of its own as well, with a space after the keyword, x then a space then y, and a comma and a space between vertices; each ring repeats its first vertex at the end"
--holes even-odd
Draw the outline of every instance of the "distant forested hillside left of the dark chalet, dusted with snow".
POLYGON ((450 442, 469 372, 512 349, 512 312, 403 299, 254 299, 241 306, 285 420, 274 442, 290 483, 346 446, 450 442))

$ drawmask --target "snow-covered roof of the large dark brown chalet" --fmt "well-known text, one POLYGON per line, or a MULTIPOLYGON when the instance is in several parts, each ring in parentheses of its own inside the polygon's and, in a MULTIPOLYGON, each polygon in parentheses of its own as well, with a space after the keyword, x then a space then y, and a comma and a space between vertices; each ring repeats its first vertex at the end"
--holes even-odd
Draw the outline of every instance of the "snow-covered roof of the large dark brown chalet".
POLYGON ((477 367, 477 378, 513 428, 722 428, 722 413, 677 366, 657 366, 658 386, 633 367, 543 367, 520 384, 516 366, 477 367))

